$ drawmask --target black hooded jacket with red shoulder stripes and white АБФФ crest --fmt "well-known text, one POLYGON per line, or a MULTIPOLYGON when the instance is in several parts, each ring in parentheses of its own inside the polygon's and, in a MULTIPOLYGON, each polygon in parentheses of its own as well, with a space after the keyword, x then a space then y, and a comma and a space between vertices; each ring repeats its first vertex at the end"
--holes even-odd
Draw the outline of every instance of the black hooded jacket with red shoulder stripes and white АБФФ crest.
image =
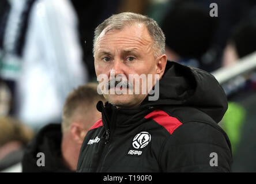
POLYGON ((216 79, 167 62, 159 87, 159 99, 137 109, 97 104, 102 120, 84 139, 77 172, 230 171, 231 144, 217 125, 227 98, 216 79))

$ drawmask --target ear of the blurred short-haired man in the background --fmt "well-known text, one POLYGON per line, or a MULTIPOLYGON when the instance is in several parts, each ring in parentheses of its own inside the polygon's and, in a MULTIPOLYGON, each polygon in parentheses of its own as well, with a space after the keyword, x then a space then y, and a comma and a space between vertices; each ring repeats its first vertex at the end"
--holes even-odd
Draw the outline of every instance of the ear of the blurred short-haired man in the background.
POLYGON ((86 135, 86 130, 79 122, 73 122, 70 126, 70 134, 77 144, 82 144, 86 135))

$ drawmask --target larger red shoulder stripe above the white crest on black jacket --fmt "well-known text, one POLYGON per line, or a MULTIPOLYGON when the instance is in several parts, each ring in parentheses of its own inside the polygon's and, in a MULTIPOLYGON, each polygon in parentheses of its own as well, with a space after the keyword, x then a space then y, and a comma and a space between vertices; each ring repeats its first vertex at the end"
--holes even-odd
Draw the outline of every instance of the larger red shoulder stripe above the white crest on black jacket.
POLYGON ((177 118, 169 116, 163 110, 154 110, 145 116, 146 119, 152 119, 156 121, 159 125, 163 126, 169 133, 173 133, 176 128, 182 125, 177 118))

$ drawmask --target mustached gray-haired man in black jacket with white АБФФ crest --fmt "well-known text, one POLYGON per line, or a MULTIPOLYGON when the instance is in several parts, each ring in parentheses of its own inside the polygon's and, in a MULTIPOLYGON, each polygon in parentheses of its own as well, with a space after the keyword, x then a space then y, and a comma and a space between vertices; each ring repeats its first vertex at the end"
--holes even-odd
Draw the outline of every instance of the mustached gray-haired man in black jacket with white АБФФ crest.
POLYGON ((78 172, 230 171, 231 144, 217 125, 227 110, 223 89, 205 71, 167 62, 164 47, 157 23, 141 14, 116 14, 96 28, 95 71, 108 102, 97 104, 102 119, 84 139, 78 172), (131 82, 136 74, 146 75, 146 93, 134 93, 145 88, 131 82), (151 91, 159 98, 150 100, 151 91))

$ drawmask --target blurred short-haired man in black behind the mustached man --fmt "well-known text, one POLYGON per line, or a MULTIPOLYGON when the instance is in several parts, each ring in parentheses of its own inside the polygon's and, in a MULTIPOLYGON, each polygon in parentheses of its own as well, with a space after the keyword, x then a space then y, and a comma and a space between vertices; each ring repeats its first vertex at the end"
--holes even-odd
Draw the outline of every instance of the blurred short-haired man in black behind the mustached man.
POLYGON ((23 172, 76 170, 86 132, 101 117, 96 103, 104 98, 97 94, 96 89, 96 84, 88 83, 69 94, 63 106, 62 124, 44 127, 25 150, 23 172))

